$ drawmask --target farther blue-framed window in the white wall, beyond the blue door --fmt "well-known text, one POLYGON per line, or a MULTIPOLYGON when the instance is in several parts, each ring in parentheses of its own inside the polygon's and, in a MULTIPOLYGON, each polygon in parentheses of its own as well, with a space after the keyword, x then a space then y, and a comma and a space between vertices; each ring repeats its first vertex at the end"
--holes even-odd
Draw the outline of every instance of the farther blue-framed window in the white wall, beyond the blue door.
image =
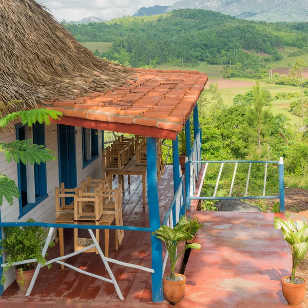
POLYGON ((83 169, 99 155, 99 134, 97 129, 82 128, 83 169))

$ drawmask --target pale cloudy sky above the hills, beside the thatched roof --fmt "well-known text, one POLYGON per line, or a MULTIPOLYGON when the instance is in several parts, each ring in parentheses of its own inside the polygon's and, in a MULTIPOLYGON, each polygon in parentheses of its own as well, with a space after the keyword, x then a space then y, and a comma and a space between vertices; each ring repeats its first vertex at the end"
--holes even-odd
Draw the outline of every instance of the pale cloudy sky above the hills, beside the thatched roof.
POLYGON ((95 16, 110 20, 132 15, 141 7, 172 5, 176 0, 37 0, 45 5, 58 21, 80 21, 95 16))

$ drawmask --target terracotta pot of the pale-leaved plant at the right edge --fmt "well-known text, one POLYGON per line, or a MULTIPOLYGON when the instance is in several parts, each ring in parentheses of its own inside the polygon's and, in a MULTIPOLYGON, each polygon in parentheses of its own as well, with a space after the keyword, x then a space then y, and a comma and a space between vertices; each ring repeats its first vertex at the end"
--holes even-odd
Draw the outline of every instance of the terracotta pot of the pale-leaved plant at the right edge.
MULTIPOLYGON (((304 282, 301 284, 292 284, 292 283, 287 283, 284 281, 285 278, 290 278, 290 276, 285 276, 281 279, 281 284, 282 284, 282 293, 289 305, 299 305, 306 293, 306 279, 304 279, 304 282)), ((295 277, 295 278, 300 278, 300 277, 295 277)))

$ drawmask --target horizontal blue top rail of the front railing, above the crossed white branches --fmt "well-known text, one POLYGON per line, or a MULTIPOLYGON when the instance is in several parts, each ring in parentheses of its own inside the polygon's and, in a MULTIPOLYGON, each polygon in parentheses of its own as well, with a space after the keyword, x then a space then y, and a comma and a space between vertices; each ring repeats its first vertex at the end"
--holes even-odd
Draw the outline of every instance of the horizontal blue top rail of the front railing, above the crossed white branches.
POLYGON ((1 222, 0 227, 46 227, 46 228, 71 228, 71 229, 111 229, 111 230, 132 230, 152 232, 150 228, 133 227, 133 226, 109 226, 109 225, 80 225, 64 223, 46 223, 46 222, 1 222))

